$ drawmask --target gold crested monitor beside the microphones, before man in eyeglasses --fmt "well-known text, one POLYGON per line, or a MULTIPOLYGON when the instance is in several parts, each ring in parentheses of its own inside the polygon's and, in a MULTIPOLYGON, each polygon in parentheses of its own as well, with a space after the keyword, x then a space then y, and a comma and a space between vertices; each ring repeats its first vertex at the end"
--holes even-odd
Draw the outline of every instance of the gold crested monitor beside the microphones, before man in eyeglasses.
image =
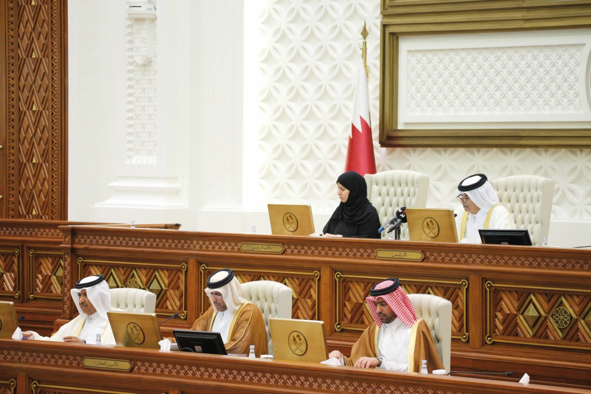
POLYGON ((453 209, 407 208, 406 213, 411 241, 457 242, 453 209))

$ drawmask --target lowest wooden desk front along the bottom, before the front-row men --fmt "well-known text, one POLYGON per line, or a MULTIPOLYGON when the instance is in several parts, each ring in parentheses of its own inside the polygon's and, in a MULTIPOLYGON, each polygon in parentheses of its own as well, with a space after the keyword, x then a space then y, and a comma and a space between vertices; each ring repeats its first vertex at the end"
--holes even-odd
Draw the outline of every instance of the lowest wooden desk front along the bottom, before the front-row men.
POLYGON ((524 386, 516 381, 95 345, 0 340, 0 391, 4 393, 83 393, 92 390, 113 394, 591 394, 591 390, 524 386))

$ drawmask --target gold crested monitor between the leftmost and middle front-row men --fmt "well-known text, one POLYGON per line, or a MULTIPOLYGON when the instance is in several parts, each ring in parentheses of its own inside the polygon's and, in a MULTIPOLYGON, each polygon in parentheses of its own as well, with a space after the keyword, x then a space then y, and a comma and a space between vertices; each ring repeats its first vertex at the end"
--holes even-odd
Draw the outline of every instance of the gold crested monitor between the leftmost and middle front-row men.
POLYGON ((107 311, 117 346, 160 349, 162 333, 155 313, 107 311))

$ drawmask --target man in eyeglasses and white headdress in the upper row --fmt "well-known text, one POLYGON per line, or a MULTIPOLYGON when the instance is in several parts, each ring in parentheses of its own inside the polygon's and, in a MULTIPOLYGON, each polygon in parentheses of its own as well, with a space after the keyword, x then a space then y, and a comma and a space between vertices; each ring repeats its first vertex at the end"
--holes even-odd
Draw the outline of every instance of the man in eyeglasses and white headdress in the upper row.
POLYGON ((456 209, 458 239, 465 244, 480 244, 480 228, 515 228, 511 214, 499 202, 499 196, 486 175, 475 174, 457 185, 457 199, 462 203, 456 209))

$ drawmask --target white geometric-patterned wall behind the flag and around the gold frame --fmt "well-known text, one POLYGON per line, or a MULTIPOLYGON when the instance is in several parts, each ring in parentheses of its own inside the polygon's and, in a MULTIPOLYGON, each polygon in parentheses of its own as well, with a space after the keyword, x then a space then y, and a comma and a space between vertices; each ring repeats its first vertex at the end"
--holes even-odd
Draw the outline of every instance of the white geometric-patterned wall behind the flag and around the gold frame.
POLYGON ((472 173, 483 172, 490 179, 523 173, 547 176, 556 180, 555 218, 591 219, 589 150, 379 147, 380 0, 278 0, 264 5, 258 55, 262 86, 256 92, 262 124, 259 150, 252 153, 261 157, 261 204, 305 202, 315 211, 337 206, 335 182, 345 166, 363 21, 369 31, 369 110, 378 171, 426 173, 427 206, 436 208, 457 206, 457 182, 472 173))

